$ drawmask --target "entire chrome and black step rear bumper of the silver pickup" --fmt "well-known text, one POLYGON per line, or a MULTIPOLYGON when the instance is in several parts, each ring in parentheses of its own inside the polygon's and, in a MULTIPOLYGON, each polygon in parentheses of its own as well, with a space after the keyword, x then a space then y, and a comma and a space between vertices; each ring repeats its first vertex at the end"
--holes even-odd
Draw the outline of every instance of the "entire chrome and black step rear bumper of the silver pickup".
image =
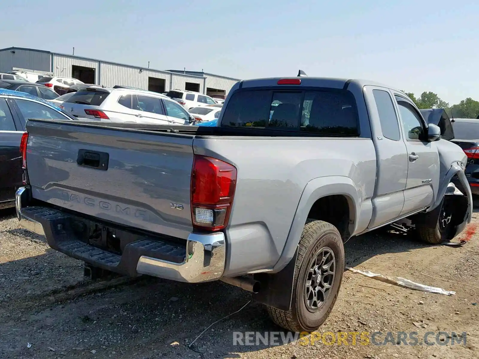
POLYGON ((178 262, 164 258, 172 252, 181 252, 181 245, 175 247, 160 237, 138 236, 136 242, 125 246, 121 255, 116 255, 77 239, 69 229, 71 214, 50 207, 29 207, 30 196, 29 187, 21 187, 16 192, 15 208, 20 224, 45 236, 50 247, 70 257, 120 274, 146 274, 189 283, 217 280, 223 275, 226 244, 221 232, 191 233, 184 246, 184 257, 180 256, 184 260, 178 262))

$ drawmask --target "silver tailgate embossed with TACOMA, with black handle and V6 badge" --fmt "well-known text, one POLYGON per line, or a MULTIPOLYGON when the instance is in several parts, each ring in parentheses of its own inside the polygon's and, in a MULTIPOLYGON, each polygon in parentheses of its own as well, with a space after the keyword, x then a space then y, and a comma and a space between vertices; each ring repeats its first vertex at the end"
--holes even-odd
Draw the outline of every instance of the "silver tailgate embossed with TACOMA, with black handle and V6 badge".
POLYGON ((192 232, 192 135, 30 120, 34 199, 168 236, 192 232))

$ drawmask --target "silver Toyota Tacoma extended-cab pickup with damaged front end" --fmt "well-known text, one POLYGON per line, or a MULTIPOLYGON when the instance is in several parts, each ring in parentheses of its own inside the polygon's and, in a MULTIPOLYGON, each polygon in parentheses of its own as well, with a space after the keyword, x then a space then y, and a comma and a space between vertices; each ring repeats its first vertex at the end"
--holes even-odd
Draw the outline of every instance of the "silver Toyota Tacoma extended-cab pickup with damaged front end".
POLYGON ((438 244, 471 219, 464 152, 371 81, 240 81, 217 127, 26 129, 16 210, 50 247, 87 273, 223 280, 291 331, 330 314, 350 237, 398 223, 438 244))

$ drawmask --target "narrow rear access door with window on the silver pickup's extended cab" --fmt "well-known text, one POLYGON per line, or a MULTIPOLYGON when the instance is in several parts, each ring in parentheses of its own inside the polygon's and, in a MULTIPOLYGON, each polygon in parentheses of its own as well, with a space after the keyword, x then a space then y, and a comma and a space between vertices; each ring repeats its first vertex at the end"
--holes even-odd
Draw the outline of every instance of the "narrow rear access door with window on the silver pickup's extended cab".
POLYGON ((365 86, 364 91, 376 147, 376 187, 368 225, 374 228, 398 218, 402 211, 408 157, 391 92, 376 86, 365 86))

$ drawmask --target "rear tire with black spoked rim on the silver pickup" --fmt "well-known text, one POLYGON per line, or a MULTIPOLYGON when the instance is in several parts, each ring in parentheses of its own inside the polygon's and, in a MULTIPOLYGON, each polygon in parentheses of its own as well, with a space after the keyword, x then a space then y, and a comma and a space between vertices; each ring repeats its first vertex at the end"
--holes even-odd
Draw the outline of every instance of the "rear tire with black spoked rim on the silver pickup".
POLYGON ((343 271, 344 247, 336 227, 308 220, 298 245, 291 308, 285 311, 268 306, 268 314, 274 323, 292 332, 315 331, 336 303, 343 271))

